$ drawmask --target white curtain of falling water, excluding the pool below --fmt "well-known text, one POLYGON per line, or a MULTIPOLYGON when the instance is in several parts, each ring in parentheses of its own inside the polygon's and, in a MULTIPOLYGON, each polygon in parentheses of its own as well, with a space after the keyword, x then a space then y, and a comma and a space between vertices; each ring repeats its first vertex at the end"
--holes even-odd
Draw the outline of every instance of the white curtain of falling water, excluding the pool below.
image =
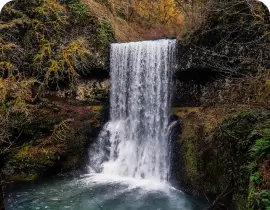
POLYGON ((176 40, 112 44, 110 121, 90 150, 90 172, 166 181, 176 40))

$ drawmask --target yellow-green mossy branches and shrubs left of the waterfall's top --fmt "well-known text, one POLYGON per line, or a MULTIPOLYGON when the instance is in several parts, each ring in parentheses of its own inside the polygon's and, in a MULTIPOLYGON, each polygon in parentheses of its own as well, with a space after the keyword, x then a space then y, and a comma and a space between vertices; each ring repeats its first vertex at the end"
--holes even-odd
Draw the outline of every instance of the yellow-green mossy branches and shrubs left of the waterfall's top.
POLYGON ((16 145, 17 122, 31 120, 46 90, 74 91, 100 62, 93 51, 101 57, 113 39, 111 25, 81 0, 12 0, 0 8, 0 153, 16 145))

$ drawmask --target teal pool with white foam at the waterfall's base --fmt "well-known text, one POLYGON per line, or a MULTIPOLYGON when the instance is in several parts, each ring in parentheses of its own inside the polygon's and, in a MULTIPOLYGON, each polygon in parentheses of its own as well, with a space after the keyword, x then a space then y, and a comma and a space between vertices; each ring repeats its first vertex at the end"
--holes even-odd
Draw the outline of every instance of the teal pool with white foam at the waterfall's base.
POLYGON ((23 186, 7 195, 7 210, 199 210, 167 183, 105 175, 23 186))

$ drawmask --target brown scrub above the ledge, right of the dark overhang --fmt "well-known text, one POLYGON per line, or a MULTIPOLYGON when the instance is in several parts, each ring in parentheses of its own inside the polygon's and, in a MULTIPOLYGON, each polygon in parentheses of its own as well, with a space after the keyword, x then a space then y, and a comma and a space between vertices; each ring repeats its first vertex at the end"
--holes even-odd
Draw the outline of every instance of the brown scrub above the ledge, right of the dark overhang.
POLYGON ((225 77, 203 87, 201 102, 213 104, 243 104, 249 106, 270 106, 269 69, 258 67, 256 74, 242 77, 225 77))

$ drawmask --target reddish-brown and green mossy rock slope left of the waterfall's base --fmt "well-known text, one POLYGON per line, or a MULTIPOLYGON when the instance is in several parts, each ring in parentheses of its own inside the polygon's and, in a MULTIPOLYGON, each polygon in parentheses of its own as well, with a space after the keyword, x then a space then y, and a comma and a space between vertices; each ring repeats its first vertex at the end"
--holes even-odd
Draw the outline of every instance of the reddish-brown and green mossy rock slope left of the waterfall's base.
POLYGON ((74 100, 39 106, 23 126, 17 147, 4 157, 4 180, 33 180, 81 166, 85 148, 105 123, 103 110, 104 106, 74 100))

